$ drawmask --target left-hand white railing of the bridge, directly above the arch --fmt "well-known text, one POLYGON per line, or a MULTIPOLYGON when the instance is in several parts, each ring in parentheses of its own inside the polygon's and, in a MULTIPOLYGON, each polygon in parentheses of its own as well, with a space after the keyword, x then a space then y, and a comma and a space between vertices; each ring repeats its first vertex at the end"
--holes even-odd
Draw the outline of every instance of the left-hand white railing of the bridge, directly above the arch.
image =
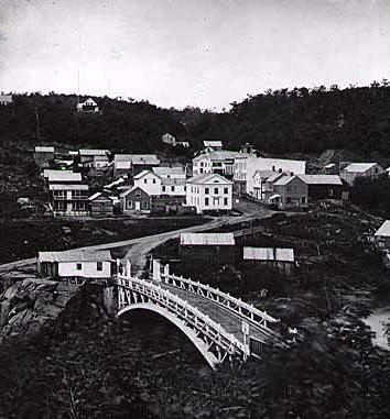
MULTIPOLYGON (((195 329, 202 330, 202 333, 214 341, 218 341, 218 344, 228 353, 239 352, 243 355, 249 354, 249 345, 245 345, 232 333, 228 333, 207 315, 160 285, 136 277, 121 277, 120 275, 118 275, 115 280, 119 287, 148 297, 154 304, 169 309, 178 318, 193 324, 195 329)), ((122 301, 120 306, 126 307, 129 302, 130 301, 122 301)))

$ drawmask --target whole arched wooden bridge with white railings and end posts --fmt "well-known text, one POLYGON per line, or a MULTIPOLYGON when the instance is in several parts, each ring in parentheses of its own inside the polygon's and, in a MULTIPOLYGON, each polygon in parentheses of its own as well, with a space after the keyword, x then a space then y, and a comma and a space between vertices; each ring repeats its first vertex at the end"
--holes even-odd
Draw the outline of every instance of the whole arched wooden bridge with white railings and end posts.
POLYGON ((261 357, 263 345, 286 346, 273 328, 279 320, 219 289, 171 275, 167 265, 154 265, 152 280, 131 276, 129 262, 118 272, 117 316, 136 309, 163 316, 212 367, 226 359, 261 357))

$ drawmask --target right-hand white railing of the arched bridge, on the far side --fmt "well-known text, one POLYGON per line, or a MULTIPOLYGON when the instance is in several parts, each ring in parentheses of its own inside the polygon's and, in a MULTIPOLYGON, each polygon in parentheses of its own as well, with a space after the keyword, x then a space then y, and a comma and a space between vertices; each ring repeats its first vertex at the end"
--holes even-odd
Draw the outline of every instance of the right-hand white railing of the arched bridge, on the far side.
POLYGON ((163 283, 172 285, 174 287, 185 289, 189 293, 197 294, 205 298, 213 300, 214 302, 226 307, 227 309, 237 312, 240 317, 248 320, 250 323, 254 323, 261 329, 266 329, 270 334, 274 331, 269 324, 278 323, 280 320, 268 315, 266 311, 257 309, 253 305, 242 301, 240 298, 232 297, 230 294, 223 293, 218 288, 213 288, 207 284, 202 284, 188 278, 176 275, 161 275, 163 283))

